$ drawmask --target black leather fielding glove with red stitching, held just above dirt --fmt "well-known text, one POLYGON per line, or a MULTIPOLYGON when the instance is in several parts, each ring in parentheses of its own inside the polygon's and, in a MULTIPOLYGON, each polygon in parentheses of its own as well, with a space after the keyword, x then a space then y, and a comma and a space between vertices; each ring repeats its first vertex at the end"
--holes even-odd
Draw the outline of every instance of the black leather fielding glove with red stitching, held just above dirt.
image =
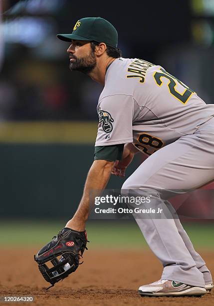
POLYGON ((87 249, 87 242, 86 230, 77 231, 65 227, 34 255, 39 271, 44 279, 51 283, 50 287, 78 268, 82 263, 79 263, 79 259, 85 248, 87 249), (48 261, 52 263, 50 268, 46 264, 48 261))

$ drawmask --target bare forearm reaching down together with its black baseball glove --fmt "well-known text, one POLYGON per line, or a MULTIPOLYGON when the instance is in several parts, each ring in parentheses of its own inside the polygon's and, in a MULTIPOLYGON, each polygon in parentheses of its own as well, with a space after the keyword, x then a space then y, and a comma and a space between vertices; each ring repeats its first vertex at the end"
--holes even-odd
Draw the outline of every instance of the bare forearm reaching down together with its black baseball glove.
POLYGON ((83 196, 75 215, 34 256, 42 276, 51 283, 51 286, 78 268, 79 259, 82 258, 84 250, 87 249, 88 240, 85 222, 90 210, 90 190, 102 190, 105 188, 111 175, 113 164, 114 161, 94 160, 88 172, 83 196), (46 264, 49 260, 54 264, 51 268, 46 264))

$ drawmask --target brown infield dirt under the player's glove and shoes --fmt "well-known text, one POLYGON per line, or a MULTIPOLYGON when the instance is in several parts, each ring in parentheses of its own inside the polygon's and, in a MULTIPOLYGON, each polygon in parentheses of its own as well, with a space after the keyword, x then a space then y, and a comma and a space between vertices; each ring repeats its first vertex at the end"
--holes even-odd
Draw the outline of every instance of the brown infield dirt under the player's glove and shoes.
MULTIPOLYGON (((88 250, 78 270, 48 291, 33 261, 36 249, 1 251, 0 295, 33 295, 33 305, 166 305, 214 304, 214 293, 203 297, 141 297, 140 285, 160 278, 162 267, 149 250, 88 250)), ((214 252, 201 252, 214 272, 214 252)), ((0 305, 8 303, 0 303, 0 305)), ((14 303, 13 303, 14 304, 14 303)))

